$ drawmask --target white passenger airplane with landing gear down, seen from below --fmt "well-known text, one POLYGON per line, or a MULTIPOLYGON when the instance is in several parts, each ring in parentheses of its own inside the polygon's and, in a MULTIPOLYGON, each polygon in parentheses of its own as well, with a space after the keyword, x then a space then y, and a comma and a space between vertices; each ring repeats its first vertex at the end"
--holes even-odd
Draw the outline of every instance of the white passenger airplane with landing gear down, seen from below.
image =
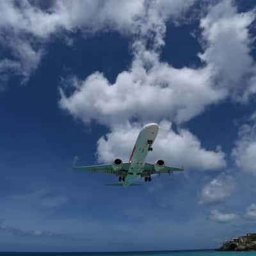
POLYGON ((152 151, 152 145, 156 140, 159 130, 158 124, 146 124, 140 131, 136 143, 132 149, 128 162, 116 158, 112 164, 74 166, 76 170, 88 170, 89 172, 111 173, 118 176, 119 183, 106 184, 108 186, 136 186, 141 184, 133 183, 134 178, 141 177, 145 182, 150 182, 151 175, 158 173, 173 173, 184 171, 184 167, 175 168, 165 166, 164 160, 158 159, 154 164, 146 163, 145 158, 148 152, 152 151))

